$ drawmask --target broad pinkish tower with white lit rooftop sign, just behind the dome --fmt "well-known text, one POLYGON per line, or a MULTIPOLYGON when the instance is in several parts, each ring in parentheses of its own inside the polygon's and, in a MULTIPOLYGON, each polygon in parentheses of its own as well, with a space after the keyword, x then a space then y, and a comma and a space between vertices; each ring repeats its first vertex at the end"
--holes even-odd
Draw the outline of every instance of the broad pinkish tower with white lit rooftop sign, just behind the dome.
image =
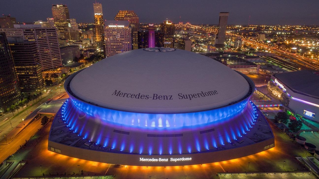
POLYGON ((105 21, 104 37, 107 57, 132 50, 131 31, 127 20, 105 21))

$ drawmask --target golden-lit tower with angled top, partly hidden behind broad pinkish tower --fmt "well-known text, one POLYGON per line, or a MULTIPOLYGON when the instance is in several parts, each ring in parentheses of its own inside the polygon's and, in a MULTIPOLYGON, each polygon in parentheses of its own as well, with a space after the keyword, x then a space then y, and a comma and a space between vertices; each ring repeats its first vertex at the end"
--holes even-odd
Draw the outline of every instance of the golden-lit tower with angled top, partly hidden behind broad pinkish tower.
POLYGON ((138 37, 137 32, 139 30, 139 18, 134 11, 119 11, 115 20, 128 20, 130 22, 130 27, 132 28, 132 40, 133 40, 133 50, 138 49, 138 37))

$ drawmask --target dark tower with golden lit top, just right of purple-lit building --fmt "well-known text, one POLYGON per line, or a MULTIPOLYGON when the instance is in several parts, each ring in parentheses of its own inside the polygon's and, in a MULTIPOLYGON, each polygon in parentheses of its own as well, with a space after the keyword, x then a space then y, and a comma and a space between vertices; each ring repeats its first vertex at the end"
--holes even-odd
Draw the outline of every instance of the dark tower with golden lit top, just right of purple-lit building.
POLYGON ((175 25, 166 19, 166 21, 160 24, 160 27, 163 33, 163 47, 174 48, 175 25))

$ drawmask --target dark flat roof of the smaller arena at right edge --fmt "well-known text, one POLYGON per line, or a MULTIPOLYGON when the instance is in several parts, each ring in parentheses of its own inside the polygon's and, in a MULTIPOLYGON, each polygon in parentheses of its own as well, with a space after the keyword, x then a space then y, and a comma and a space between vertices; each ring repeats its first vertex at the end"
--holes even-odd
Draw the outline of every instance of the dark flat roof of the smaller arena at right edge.
POLYGON ((300 70, 274 76, 293 92, 319 99, 319 71, 300 70))

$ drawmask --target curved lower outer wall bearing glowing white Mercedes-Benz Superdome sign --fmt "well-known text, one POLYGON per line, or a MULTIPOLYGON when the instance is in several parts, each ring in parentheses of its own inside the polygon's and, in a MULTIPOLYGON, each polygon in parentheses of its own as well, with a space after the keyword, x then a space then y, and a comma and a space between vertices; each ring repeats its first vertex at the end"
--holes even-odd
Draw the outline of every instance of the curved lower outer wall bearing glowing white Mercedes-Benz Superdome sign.
POLYGON ((48 146, 50 151, 56 149, 56 153, 88 161, 131 166, 184 166, 227 161, 260 153, 274 147, 274 138, 239 148, 178 155, 119 154, 70 147, 52 141, 48 141, 48 146))

